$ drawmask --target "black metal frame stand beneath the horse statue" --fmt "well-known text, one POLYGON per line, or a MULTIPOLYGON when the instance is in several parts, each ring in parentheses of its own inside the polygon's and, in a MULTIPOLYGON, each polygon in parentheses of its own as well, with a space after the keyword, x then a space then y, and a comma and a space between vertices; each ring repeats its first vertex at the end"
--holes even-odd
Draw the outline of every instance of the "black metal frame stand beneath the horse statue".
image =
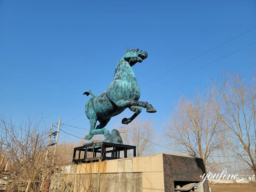
POLYGON ((127 150, 133 149, 133 156, 136 157, 136 146, 132 145, 123 145, 116 143, 108 142, 92 142, 90 144, 75 147, 73 153, 73 161, 75 164, 78 163, 91 163, 97 162, 99 159, 101 161, 111 160, 111 159, 120 159, 120 151, 124 151, 124 158, 127 157, 127 150), (112 150, 106 150, 107 148, 112 148, 112 150), (78 159, 76 159, 76 152, 79 152, 78 159), (81 151, 84 151, 84 156, 81 158, 81 151), (93 157, 87 157, 87 152, 92 152, 93 157), (97 156, 97 153, 100 153, 100 156, 97 156), (106 154, 111 153, 111 157, 107 157, 106 154))

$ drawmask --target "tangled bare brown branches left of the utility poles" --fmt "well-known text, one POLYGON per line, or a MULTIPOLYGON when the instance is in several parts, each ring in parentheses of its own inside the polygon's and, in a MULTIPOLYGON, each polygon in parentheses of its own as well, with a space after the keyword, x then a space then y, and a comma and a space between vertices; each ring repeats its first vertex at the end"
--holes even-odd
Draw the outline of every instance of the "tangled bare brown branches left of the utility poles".
POLYGON ((5 191, 44 189, 45 180, 49 181, 50 175, 59 171, 58 165, 62 162, 45 161, 48 130, 40 125, 42 119, 29 119, 19 126, 4 118, 0 121, 1 157, 4 156, 0 167, 3 170, 5 166, 4 174, 8 178, 5 191))

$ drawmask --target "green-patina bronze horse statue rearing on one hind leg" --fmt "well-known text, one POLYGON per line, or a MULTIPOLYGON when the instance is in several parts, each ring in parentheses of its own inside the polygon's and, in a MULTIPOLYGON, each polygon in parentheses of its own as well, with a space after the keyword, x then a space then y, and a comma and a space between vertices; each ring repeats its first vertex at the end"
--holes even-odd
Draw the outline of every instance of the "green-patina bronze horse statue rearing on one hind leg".
MULTIPOLYGON (((114 74, 114 80, 108 85, 108 89, 99 95, 94 95, 91 90, 84 92, 87 96, 89 94, 92 97, 87 100, 85 104, 85 114, 90 120, 90 131, 85 136, 86 140, 92 139, 95 134, 104 134, 105 140, 113 134, 104 128, 111 117, 122 113, 126 108, 130 108, 135 113, 130 118, 124 118, 122 124, 129 124, 132 120, 138 116, 141 112, 141 107, 147 108, 148 113, 155 113, 156 109, 148 104, 146 101, 139 101, 140 99, 140 87, 137 84, 132 66, 139 62, 141 63, 148 57, 147 52, 140 51, 139 49, 133 49, 130 51, 129 47, 126 49, 126 54, 118 61, 114 74), (100 124, 95 128, 96 122, 100 124)), ((116 130, 116 132, 118 132, 116 130)), ((113 141, 112 141, 113 142, 113 141)), ((114 142, 121 142, 114 141, 114 142)), ((121 142, 122 143, 122 142, 121 142)))

